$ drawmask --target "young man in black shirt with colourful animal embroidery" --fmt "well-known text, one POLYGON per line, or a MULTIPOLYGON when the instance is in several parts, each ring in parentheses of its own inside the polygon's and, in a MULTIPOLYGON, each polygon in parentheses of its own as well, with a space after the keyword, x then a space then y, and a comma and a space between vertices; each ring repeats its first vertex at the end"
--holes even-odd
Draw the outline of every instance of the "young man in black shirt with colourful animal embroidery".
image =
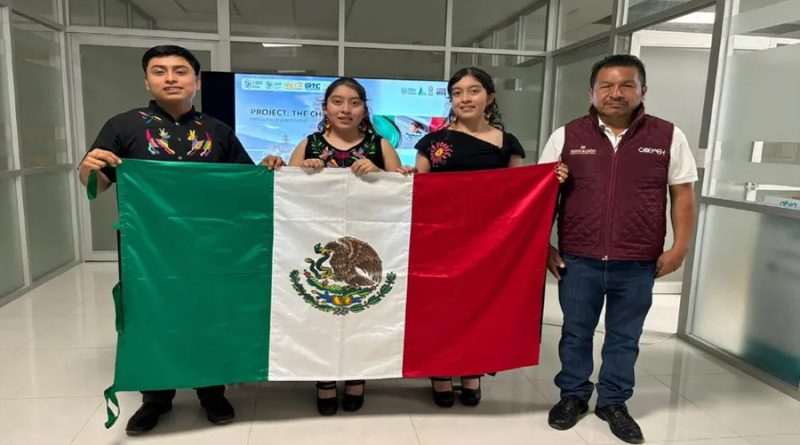
MULTIPOLYGON (((153 100, 145 108, 135 108, 106 122, 78 167, 84 185, 95 170, 98 192, 108 189, 117 179, 115 167, 126 158, 253 163, 230 127, 192 106, 200 89, 200 63, 191 52, 179 46, 156 46, 145 52, 142 68, 145 88, 153 100)), ((142 406, 128 421, 128 435, 153 429, 159 417, 172 409, 175 390, 142 394, 142 406)), ((197 388, 212 423, 228 423, 234 417, 224 394, 225 386, 197 388)))

